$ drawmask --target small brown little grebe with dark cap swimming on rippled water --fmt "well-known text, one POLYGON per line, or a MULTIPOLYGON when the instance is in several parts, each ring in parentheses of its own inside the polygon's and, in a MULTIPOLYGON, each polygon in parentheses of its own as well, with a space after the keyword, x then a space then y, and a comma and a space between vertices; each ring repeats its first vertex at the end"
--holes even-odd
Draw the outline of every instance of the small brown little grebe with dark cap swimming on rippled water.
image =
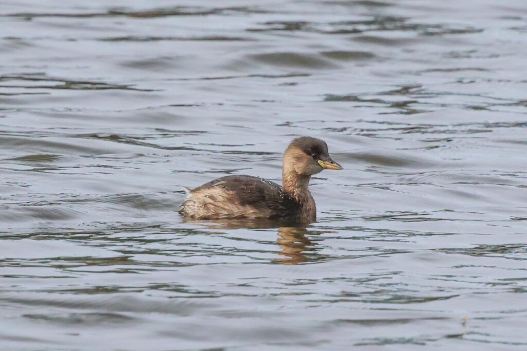
POLYGON ((284 152, 282 186, 258 177, 233 175, 189 190, 179 213, 189 219, 295 219, 315 222, 309 178, 327 169, 342 169, 320 139, 302 136, 284 152))

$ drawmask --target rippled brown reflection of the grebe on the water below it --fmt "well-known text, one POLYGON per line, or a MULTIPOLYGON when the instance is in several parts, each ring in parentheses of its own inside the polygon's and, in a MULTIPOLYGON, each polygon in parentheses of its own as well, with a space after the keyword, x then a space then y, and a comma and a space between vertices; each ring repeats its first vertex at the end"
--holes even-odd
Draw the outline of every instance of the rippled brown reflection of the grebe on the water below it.
MULTIPOLYGON (((201 221, 188 221, 191 223, 200 223, 201 221)), ((319 257, 316 255, 316 244, 306 235, 320 235, 324 232, 318 230, 308 230, 305 226, 294 226, 293 223, 277 222, 271 220, 248 220, 238 219, 229 221, 207 221, 209 229, 268 229, 277 228, 278 238, 277 245, 280 247, 278 254, 282 257, 276 259, 276 262, 284 265, 295 265, 298 263, 310 262, 319 257)))

